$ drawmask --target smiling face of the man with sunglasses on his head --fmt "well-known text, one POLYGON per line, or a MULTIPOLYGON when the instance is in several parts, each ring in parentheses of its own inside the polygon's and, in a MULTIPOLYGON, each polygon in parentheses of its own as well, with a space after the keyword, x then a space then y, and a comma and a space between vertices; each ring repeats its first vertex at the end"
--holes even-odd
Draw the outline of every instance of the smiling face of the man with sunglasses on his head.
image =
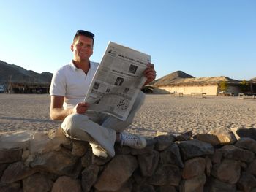
POLYGON ((88 61, 93 54, 93 40, 80 35, 71 45, 75 61, 88 61))

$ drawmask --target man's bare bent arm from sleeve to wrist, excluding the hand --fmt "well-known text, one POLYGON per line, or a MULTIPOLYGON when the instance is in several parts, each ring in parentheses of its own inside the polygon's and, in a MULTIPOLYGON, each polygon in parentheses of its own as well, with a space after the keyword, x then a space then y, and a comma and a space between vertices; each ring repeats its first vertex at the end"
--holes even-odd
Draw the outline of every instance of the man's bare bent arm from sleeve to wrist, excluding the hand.
POLYGON ((50 96, 50 118, 52 120, 64 120, 67 115, 73 113, 73 109, 64 110, 62 105, 64 96, 50 96))

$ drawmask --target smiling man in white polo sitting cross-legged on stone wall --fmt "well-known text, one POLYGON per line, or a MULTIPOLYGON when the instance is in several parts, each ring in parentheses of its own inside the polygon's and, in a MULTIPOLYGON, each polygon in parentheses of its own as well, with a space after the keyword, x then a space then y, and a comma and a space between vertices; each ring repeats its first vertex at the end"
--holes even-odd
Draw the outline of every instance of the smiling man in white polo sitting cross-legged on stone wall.
MULTIPOLYGON (((138 94, 127 120, 122 121, 110 115, 92 112, 89 104, 83 102, 98 63, 89 60, 93 54, 94 34, 78 30, 73 39, 72 61, 61 67, 54 75, 50 85, 50 118, 64 120, 61 128, 67 137, 87 141, 92 152, 100 158, 115 155, 114 144, 120 142, 134 148, 146 147, 146 139, 124 133, 143 103, 144 94, 138 94), (88 111, 87 111, 88 110, 88 111)), ((156 77, 154 65, 148 64, 143 73, 146 83, 156 77)))

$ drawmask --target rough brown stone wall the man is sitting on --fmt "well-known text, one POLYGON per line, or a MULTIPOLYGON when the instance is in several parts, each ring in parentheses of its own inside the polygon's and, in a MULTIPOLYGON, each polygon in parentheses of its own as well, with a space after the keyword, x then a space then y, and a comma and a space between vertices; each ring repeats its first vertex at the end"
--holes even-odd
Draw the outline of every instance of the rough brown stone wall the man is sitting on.
POLYGON ((114 158, 87 142, 48 134, 0 137, 0 191, 256 191, 255 128, 148 139, 143 150, 116 145, 114 158))

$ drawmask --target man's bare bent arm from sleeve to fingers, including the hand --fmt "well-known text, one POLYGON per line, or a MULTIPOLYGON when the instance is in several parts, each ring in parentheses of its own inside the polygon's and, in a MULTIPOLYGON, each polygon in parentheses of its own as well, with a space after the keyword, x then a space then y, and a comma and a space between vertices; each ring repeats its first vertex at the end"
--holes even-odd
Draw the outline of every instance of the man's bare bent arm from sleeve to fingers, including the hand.
POLYGON ((73 113, 84 114, 89 108, 88 103, 80 102, 74 108, 64 110, 62 107, 63 102, 64 96, 50 96, 50 118, 52 120, 64 120, 67 115, 73 113))

